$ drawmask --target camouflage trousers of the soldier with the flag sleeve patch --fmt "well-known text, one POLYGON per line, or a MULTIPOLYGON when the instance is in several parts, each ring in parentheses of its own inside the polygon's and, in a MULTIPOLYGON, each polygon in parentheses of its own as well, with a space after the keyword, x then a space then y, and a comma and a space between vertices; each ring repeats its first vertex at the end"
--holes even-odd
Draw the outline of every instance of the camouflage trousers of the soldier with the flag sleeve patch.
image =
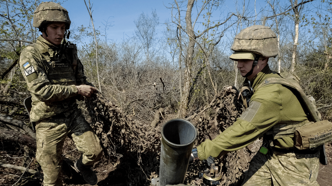
POLYGON ((80 109, 74 110, 68 117, 59 114, 36 122, 36 159, 44 173, 44 186, 62 185, 61 154, 66 136, 83 152, 84 165, 93 165, 103 155, 100 141, 80 109))

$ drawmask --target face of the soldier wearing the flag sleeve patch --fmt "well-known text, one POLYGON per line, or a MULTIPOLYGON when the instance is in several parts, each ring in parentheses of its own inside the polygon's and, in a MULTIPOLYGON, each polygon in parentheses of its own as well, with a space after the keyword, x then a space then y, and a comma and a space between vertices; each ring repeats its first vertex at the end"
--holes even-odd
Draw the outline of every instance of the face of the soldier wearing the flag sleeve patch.
POLYGON ((59 46, 65 33, 65 23, 54 22, 46 27, 46 33, 42 32, 42 37, 54 46, 59 46))

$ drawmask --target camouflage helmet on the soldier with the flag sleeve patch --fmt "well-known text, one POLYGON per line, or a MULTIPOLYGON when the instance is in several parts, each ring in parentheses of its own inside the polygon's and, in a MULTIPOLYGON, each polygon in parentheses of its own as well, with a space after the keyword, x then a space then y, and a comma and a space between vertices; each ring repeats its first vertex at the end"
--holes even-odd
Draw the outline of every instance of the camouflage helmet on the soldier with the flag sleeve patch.
POLYGON ((42 2, 34 12, 33 26, 43 31, 43 28, 52 22, 64 22, 66 29, 70 27, 68 11, 54 2, 42 2))

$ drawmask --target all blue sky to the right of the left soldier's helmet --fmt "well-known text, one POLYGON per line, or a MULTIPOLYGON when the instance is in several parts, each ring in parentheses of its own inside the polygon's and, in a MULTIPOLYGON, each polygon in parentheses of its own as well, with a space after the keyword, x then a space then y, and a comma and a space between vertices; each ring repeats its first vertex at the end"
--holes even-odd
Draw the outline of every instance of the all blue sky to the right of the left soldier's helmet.
MULTIPOLYGON (((86 0, 86 2, 88 3, 88 0, 86 0)), ((123 39, 133 36, 136 28, 134 20, 137 20, 141 13, 151 16, 151 12, 155 9, 159 16, 160 23, 164 23, 165 20, 171 19, 171 9, 166 8, 165 5, 170 7, 169 3, 174 3, 174 0, 90 0, 90 2, 93 4, 92 16, 95 28, 104 34, 104 24, 108 21, 109 25, 113 26, 109 27, 107 30, 107 39, 112 39, 118 43, 122 42, 123 39)), ((255 2, 257 12, 261 9, 267 9, 265 0, 246 0, 246 7, 248 7, 248 4, 250 7, 248 8, 249 11, 255 11, 255 2)), ((321 0, 315 0, 312 3, 306 4, 306 7, 309 8, 310 5, 320 3, 321 0)), ((214 19, 217 20, 218 16, 221 16, 222 20, 223 13, 227 14, 230 11, 235 12, 235 4, 237 4, 239 10, 242 9, 242 1, 225 1, 224 5, 222 5, 225 12, 221 12, 219 15, 217 12, 214 12, 214 19)), ((288 0, 281 0, 280 4, 282 7, 288 7, 290 3, 288 0)), ((61 3, 61 5, 69 12, 69 17, 72 22, 71 30, 80 25, 87 27, 91 24, 84 0, 67 0, 61 3)), ((193 9, 194 15, 195 11, 196 10, 193 9)), ((184 13, 182 13, 182 15, 184 16, 184 13)), ((261 18, 258 16, 257 19, 261 18)), ((157 27, 157 31, 160 35, 164 29, 166 29, 165 24, 159 24, 159 27, 157 27)), ((100 39, 104 39, 104 37, 100 37, 100 39)))

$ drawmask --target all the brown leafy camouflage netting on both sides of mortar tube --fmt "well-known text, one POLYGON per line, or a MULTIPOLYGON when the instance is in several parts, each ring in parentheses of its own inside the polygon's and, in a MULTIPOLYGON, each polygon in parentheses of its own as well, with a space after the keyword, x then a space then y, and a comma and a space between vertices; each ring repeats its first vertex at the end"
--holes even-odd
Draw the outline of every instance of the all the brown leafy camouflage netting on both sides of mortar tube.
MULTIPOLYGON (((215 138, 243 112, 242 105, 237 102, 237 92, 226 87, 202 112, 187 118, 196 123, 198 136, 195 146, 205 139, 215 138)), ((113 160, 120 158, 118 167, 122 169, 127 185, 149 185, 151 179, 159 174, 161 126, 154 127, 132 119, 99 93, 87 99, 86 105, 105 155, 113 160)), ((215 160, 219 169, 222 167, 220 185, 235 186, 240 182, 252 157, 249 152, 243 148, 215 160)), ((203 162, 191 163, 185 184, 203 185, 198 173, 205 167, 207 164, 203 162)))

